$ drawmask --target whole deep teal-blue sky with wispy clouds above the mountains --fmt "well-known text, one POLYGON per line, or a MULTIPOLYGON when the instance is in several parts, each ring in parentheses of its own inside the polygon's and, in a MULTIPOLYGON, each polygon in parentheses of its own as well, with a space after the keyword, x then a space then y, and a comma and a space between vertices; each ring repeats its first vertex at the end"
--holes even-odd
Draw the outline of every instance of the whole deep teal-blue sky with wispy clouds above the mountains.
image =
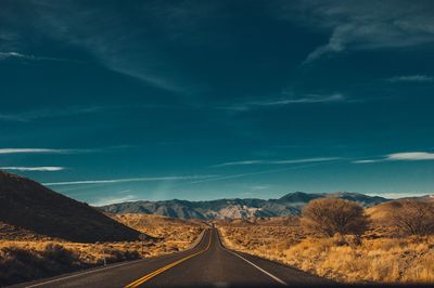
POLYGON ((434 191, 432 1, 1 1, 0 167, 78 200, 434 191))

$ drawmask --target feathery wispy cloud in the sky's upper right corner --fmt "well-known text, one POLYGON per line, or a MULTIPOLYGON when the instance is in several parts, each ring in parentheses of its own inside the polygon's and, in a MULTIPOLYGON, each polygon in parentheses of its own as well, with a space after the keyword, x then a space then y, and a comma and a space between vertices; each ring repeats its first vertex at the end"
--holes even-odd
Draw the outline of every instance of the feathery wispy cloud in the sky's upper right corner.
POLYGON ((302 1, 276 6, 276 15, 320 31, 327 43, 311 51, 304 65, 348 50, 414 47, 434 42, 432 3, 395 1, 302 1))

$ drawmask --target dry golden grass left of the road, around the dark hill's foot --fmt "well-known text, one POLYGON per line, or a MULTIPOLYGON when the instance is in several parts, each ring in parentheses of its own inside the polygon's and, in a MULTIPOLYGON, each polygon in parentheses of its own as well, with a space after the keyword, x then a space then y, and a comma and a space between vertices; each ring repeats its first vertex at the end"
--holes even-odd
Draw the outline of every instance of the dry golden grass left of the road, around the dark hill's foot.
POLYGON ((85 244, 36 235, 0 223, 0 287, 60 273, 189 248, 203 224, 155 215, 128 214, 116 220, 152 237, 142 243, 85 244))

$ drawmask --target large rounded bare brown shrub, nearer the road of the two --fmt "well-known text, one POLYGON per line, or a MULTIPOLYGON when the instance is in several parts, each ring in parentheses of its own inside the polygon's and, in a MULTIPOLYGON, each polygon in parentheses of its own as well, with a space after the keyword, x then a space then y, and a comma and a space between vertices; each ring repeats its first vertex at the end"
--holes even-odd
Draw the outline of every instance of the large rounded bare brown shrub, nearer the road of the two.
POLYGON ((353 201, 340 198, 311 200, 302 213, 305 232, 317 236, 361 235, 368 228, 369 219, 363 208, 353 201))

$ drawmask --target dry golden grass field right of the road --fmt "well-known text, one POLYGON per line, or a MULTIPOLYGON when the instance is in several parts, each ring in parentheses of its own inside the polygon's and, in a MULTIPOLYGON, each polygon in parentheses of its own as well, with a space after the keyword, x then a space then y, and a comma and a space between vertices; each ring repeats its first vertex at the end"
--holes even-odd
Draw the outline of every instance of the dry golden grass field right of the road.
POLYGON ((394 238, 374 225, 361 245, 352 236, 312 238, 293 225, 219 224, 229 248, 344 283, 434 283, 434 237, 394 238))

